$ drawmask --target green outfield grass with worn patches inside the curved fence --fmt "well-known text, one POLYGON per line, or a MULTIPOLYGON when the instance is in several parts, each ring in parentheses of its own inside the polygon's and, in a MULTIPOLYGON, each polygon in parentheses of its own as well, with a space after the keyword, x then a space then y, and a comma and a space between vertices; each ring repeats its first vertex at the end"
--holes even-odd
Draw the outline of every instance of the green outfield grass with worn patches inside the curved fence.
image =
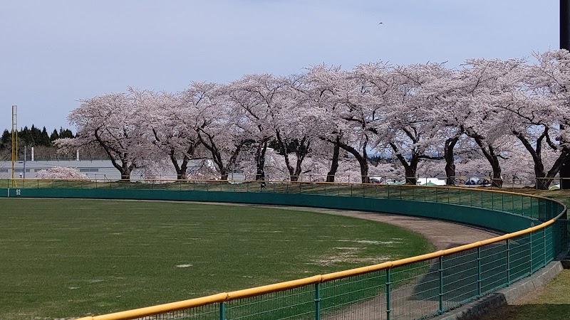
POLYGON ((432 250, 368 220, 158 201, 0 199, 0 319, 133 309, 432 250))

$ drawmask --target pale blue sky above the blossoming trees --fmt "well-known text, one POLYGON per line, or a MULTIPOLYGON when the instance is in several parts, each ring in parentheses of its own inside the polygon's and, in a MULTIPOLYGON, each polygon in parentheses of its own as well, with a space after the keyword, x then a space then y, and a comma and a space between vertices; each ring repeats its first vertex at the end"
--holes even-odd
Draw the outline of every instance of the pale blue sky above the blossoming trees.
POLYGON ((559 47, 557 0, 0 0, 0 129, 68 127, 78 99, 128 86, 559 47), (382 22, 382 24, 378 24, 382 22))

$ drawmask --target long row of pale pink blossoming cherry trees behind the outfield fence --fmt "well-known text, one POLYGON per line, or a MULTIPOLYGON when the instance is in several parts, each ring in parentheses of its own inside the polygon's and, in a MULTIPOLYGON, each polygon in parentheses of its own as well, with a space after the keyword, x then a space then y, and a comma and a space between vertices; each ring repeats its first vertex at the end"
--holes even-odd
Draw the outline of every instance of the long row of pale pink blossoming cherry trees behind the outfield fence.
POLYGON ((458 171, 478 171, 501 186, 507 174, 552 178, 567 161, 570 137, 559 128, 570 127, 569 86, 566 50, 532 62, 467 60, 457 69, 317 65, 286 77, 244 75, 192 82, 177 93, 131 88, 81 100, 68 117, 77 137, 58 145, 100 146, 125 180, 165 164, 184 179, 191 159, 207 158, 222 179, 239 164, 256 180, 283 171, 291 181, 307 172, 334 181, 358 168, 352 174, 362 182, 440 174, 453 183, 458 171), (392 161, 371 165, 371 154, 392 161))

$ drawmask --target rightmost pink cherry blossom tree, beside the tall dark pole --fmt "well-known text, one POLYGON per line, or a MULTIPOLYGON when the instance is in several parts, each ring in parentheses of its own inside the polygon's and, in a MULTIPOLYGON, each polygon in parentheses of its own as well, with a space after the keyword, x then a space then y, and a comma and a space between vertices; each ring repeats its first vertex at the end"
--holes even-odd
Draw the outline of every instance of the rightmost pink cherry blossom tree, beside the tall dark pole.
POLYGON ((566 89, 570 85, 570 53, 555 50, 534 56, 537 63, 525 68, 522 90, 513 92, 501 107, 511 116, 512 134, 532 156, 537 188, 547 189, 562 165, 570 161, 568 130, 561 130, 570 124, 566 89), (544 148, 549 159, 556 154, 548 167, 544 165, 544 148))

